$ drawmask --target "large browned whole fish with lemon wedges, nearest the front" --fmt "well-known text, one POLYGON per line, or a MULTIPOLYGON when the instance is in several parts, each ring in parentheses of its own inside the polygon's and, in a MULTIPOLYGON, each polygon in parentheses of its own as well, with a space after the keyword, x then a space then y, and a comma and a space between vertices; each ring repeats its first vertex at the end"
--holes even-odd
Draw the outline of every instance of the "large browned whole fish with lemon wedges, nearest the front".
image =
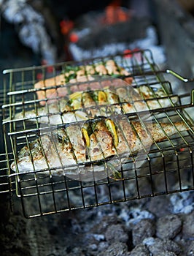
POLYGON ((49 168, 53 175, 58 176, 98 172, 105 168, 104 159, 112 157, 110 163, 116 166, 120 162, 116 159, 117 156, 123 156, 125 162, 142 148, 149 148, 152 143, 166 140, 171 135, 188 129, 190 128, 183 121, 175 122, 174 125, 150 122, 141 124, 126 116, 114 120, 98 118, 69 124, 50 130, 21 148, 11 168, 20 173, 47 173, 49 168), (97 165, 93 165, 93 161, 97 161, 97 165))

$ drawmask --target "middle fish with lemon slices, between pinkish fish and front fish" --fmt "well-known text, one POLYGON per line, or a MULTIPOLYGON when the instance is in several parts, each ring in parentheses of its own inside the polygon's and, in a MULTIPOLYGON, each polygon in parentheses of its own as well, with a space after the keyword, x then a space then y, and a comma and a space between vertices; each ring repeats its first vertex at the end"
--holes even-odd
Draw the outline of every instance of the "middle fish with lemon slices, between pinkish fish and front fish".
POLYGON ((37 110, 17 113, 13 120, 28 118, 42 124, 66 124, 87 120, 95 116, 120 113, 138 113, 143 110, 166 108, 177 102, 177 97, 167 97, 161 89, 148 86, 108 88, 94 91, 77 91, 69 99, 60 99, 37 110))

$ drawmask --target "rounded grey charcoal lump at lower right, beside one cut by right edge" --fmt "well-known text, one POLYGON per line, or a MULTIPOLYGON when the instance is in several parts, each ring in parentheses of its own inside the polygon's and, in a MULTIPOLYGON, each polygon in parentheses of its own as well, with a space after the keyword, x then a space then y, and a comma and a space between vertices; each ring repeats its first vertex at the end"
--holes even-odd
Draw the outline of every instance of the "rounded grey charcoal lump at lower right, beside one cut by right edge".
POLYGON ((174 238, 182 228, 182 220, 175 214, 161 217, 156 222, 156 236, 158 238, 174 238))

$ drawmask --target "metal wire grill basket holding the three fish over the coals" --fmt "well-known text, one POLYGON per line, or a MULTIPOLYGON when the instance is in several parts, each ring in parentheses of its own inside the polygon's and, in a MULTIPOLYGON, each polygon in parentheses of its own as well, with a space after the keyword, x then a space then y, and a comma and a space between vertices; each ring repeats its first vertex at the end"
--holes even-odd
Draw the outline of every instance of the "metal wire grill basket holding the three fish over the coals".
MULTIPOLYGON (((21 199, 23 213, 26 217, 194 189, 193 119, 190 116, 193 102, 190 100, 190 94, 181 96, 173 94, 171 83, 164 80, 163 75, 158 73, 158 67, 155 65, 150 50, 136 51, 130 56, 117 55, 56 64, 52 66, 52 72, 49 70, 50 67, 43 66, 4 71, 5 77, 8 77, 4 82, 4 94, 6 95, 3 106, 4 140, 6 151, 12 152, 12 154, 7 154, 7 170, 11 180, 10 185, 15 187, 16 195, 21 199), (189 129, 185 132, 177 131, 176 135, 167 136, 165 141, 153 143, 150 151, 146 151, 146 161, 140 167, 137 166, 141 163, 141 156, 136 158, 135 155, 131 155, 128 161, 120 166, 120 178, 106 176, 101 180, 80 181, 66 175, 53 175, 53 170, 49 165, 42 171, 14 173, 10 166, 13 160, 16 161, 20 148, 27 145, 30 149, 31 141, 38 138, 40 131, 44 130, 39 126, 40 104, 45 105, 47 113, 44 115, 50 118, 48 90, 54 89, 57 92, 55 99, 60 98, 56 89, 66 89, 68 94, 72 92, 72 84, 69 83, 34 89, 37 75, 41 74, 42 79, 45 80, 61 74, 61 71, 66 72, 69 66, 87 67, 88 64, 105 63, 108 59, 114 59, 117 64, 131 73, 134 88, 147 86, 152 91, 152 99, 146 99, 141 94, 141 101, 146 103, 153 122, 160 125, 160 122, 166 121, 174 126, 175 121, 184 121, 189 129), (147 75, 150 71, 152 75, 147 75), (160 89, 166 94, 163 99, 168 99, 170 102, 166 108, 161 105, 161 98, 155 94, 155 89, 160 89), (43 99, 37 99, 39 91, 44 93, 43 99), (178 99, 176 103, 173 101, 174 97, 178 99), (152 100, 157 102, 157 109, 150 109, 152 100), (34 122, 26 118, 25 113, 28 110, 36 113, 34 122), (23 113, 20 118, 13 118, 16 113, 20 112, 23 113)), ((85 75, 88 75, 87 72, 85 75)), ((122 75, 118 77, 123 78, 122 75)), ((89 80, 88 83, 90 83, 89 80)), ((73 84, 78 89, 80 85, 82 86, 82 82, 79 80, 73 84)), ((133 118, 134 115, 136 113, 126 114, 128 118, 133 118)), ((120 156, 118 158, 120 159, 120 156)), ((101 163, 106 165, 106 159, 103 159, 101 163)))

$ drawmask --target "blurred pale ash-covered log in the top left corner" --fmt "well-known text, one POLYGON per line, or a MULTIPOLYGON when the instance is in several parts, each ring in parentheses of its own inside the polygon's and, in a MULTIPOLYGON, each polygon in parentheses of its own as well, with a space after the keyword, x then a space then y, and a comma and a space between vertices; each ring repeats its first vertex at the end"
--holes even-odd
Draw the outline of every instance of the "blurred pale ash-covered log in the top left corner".
POLYGON ((54 64, 57 50, 45 29, 44 18, 27 0, 1 0, 0 11, 4 18, 15 25, 23 45, 40 53, 47 64, 54 64))

